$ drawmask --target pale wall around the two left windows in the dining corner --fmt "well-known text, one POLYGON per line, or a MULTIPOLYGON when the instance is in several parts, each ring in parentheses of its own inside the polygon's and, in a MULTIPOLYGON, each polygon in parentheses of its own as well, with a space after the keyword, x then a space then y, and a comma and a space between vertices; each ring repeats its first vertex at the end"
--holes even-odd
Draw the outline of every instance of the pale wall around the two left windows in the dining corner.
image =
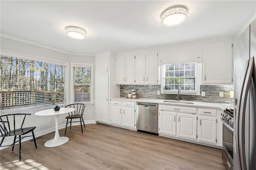
MULTIPOLYGON (((10 51, 10 53, 17 53, 17 55, 26 57, 30 56, 34 59, 44 59, 48 61, 58 61, 63 63, 68 63, 68 77, 70 77, 70 63, 93 63, 95 65, 94 56, 80 56, 80 55, 69 55, 66 53, 61 53, 58 51, 53 51, 43 47, 38 47, 36 45, 30 45, 28 43, 18 42, 15 40, 10 40, 8 38, 0 38, 0 50, 1 53, 4 51, 10 51)), ((95 75, 95 74, 94 74, 95 75)), ((70 79, 68 79, 68 87, 70 87, 70 79)), ((68 103, 70 99, 68 98, 68 103)), ((84 121, 85 123, 95 123, 95 113, 94 105, 86 105, 84 112, 84 121)), ((24 112, 22 112, 24 113, 24 112)), ((60 115, 59 117, 59 128, 66 126, 66 115, 60 115)), ((31 116, 26 117, 24 127, 36 126, 34 130, 35 136, 40 136, 55 130, 55 121, 53 119, 52 123, 49 123, 50 117, 39 117, 32 113, 31 116)), ((16 121, 22 121, 22 118, 19 117, 16 121)), ((67 130, 68 131, 68 130, 67 130)), ((64 134, 60 134, 63 136, 64 134)), ((54 136, 52 136, 54 137, 54 136)), ((3 145, 11 143, 13 137, 6 138, 3 145)))

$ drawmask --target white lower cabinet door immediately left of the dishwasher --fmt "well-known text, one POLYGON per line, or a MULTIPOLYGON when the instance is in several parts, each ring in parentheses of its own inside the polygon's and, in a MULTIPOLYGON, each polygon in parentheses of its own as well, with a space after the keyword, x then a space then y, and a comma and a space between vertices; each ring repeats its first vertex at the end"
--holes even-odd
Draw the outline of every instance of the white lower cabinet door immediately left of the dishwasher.
POLYGON ((135 109, 134 108, 128 108, 123 107, 123 124, 126 127, 132 127, 135 128, 135 109))

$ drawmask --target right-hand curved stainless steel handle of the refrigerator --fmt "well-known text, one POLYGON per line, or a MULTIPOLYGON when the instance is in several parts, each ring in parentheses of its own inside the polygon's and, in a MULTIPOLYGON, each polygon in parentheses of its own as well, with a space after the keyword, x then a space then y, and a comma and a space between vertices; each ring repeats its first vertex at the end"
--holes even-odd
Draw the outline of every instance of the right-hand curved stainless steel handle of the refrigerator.
POLYGON ((244 149, 244 140, 245 140, 245 134, 244 134, 244 127, 245 127, 245 111, 246 111, 246 102, 250 87, 250 82, 252 79, 252 73, 254 69, 254 57, 250 59, 249 65, 248 65, 248 71, 246 74, 245 82, 244 82, 244 88, 242 93, 242 100, 241 100, 241 107, 240 107, 240 126, 239 126, 239 148, 240 148, 240 159, 241 159, 241 168, 243 170, 246 170, 246 158, 245 158, 245 149, 244 149))

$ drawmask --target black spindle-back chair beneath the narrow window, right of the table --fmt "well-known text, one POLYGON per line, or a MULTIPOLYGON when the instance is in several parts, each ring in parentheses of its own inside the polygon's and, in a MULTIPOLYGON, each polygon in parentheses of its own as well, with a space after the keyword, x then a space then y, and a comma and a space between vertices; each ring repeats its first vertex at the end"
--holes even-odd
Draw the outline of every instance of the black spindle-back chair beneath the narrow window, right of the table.
MULTIPOLYGON (((80 119, 80 121, 75 121, 75 122, 80 122, 82 133, 83 133, 82 121, 84 123, 83 115, 84 115, 85 105, 83 103, 75 103, 75 104, 67 105, 65 107, 75 108, 75 111, 68 113, 68 116, 66 117, 67 123, 66 123, 65 134, 67 131, 68 123, 70 123, 70 129, 71 129, 72 119, 78 119, 78 118, 80 119), (68 122, 68 119, 70 119, 69 122, 68 122)), ((85 124, 84 124, 84 127, 85 127, 85 124)))

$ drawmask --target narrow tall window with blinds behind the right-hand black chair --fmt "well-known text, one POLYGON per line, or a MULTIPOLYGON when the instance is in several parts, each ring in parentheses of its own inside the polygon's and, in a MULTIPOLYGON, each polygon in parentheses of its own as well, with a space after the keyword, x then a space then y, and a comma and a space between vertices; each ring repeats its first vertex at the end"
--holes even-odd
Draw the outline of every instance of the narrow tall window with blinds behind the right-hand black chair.
POLYGON ((72 63, 74 103, 92 103, 92 64, 72 63))

